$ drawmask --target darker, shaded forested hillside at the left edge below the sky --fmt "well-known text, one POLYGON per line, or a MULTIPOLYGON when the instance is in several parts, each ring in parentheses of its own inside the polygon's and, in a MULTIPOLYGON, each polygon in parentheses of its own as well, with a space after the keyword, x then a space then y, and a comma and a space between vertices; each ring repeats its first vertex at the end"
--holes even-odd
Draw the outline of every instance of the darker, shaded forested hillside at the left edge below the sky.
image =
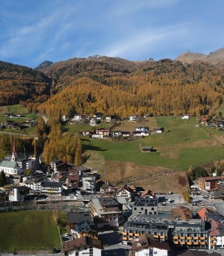
POLYGON ((0 106, 44 102, 52 79, 32 68, 0 61, 0 106))

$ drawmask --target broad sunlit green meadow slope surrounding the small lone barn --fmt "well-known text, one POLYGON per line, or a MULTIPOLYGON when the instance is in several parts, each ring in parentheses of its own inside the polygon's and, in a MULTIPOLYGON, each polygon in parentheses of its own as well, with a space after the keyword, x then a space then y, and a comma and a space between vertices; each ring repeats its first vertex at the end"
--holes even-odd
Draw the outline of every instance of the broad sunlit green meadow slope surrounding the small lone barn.
POLYGON ((210 127, 195 127, 195 118, 158 116, 157 127, 164 127, 163 134, 152 134, 135 141, 83 140, 84 148, 97 150, 107 161, 127 161, 148 166, 163 166, 184 170, 189 166, 208 163, 224 156, 224 147, 212 135, 223 138, 224 132, 210 127), (169 132, 168 132, 169 131, 169 132), (213 144, 212 144, 213 143, 213 144), (141 146, 152 146, 157 152, 143 154, 141 146), (212 148, 212 149, 211 149, 212 148), (211 154, 212 151, 212 154, 211 154))

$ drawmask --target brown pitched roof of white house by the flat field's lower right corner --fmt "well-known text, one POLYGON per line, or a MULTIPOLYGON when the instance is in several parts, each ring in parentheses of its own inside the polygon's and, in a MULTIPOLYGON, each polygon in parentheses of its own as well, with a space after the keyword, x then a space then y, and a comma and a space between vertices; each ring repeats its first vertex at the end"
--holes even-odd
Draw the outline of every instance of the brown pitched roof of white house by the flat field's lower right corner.
POLYGON ((70 250, 74 250, 76 248, 79 248, 81 246, 89 245, 95 248, 102 249, 102 244, 100 240, 92 239, 88 236, 83 236, 78 239, 68 241, 64 245, 64 252, 68 252, 70 250))

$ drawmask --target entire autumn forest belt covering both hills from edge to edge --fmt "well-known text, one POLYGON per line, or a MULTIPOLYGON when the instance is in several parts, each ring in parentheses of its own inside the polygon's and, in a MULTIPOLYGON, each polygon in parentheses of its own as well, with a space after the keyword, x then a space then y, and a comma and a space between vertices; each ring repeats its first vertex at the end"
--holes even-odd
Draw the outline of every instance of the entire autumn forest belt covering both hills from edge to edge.
POLYGON ((0 63, 0 105, 23 104, 48 116, 95 111, 122 117, 212 115, 223 101, 224 71, 201 61, 128 61, 93 56, 42 72, 0 63))

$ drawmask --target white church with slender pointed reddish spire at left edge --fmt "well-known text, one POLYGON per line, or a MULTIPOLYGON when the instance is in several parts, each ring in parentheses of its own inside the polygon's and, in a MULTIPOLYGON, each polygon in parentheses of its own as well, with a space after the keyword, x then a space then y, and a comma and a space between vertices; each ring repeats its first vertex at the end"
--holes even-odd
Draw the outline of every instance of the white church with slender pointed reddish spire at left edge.
POLYGON ((12 157, 10 160, 3 160, 0 163, 0 172, 4 172, 6 175, 20 175, 23 170, 19 167, 17 163, 17 152, 15 150, 15 140, 13 145, 12 157))

